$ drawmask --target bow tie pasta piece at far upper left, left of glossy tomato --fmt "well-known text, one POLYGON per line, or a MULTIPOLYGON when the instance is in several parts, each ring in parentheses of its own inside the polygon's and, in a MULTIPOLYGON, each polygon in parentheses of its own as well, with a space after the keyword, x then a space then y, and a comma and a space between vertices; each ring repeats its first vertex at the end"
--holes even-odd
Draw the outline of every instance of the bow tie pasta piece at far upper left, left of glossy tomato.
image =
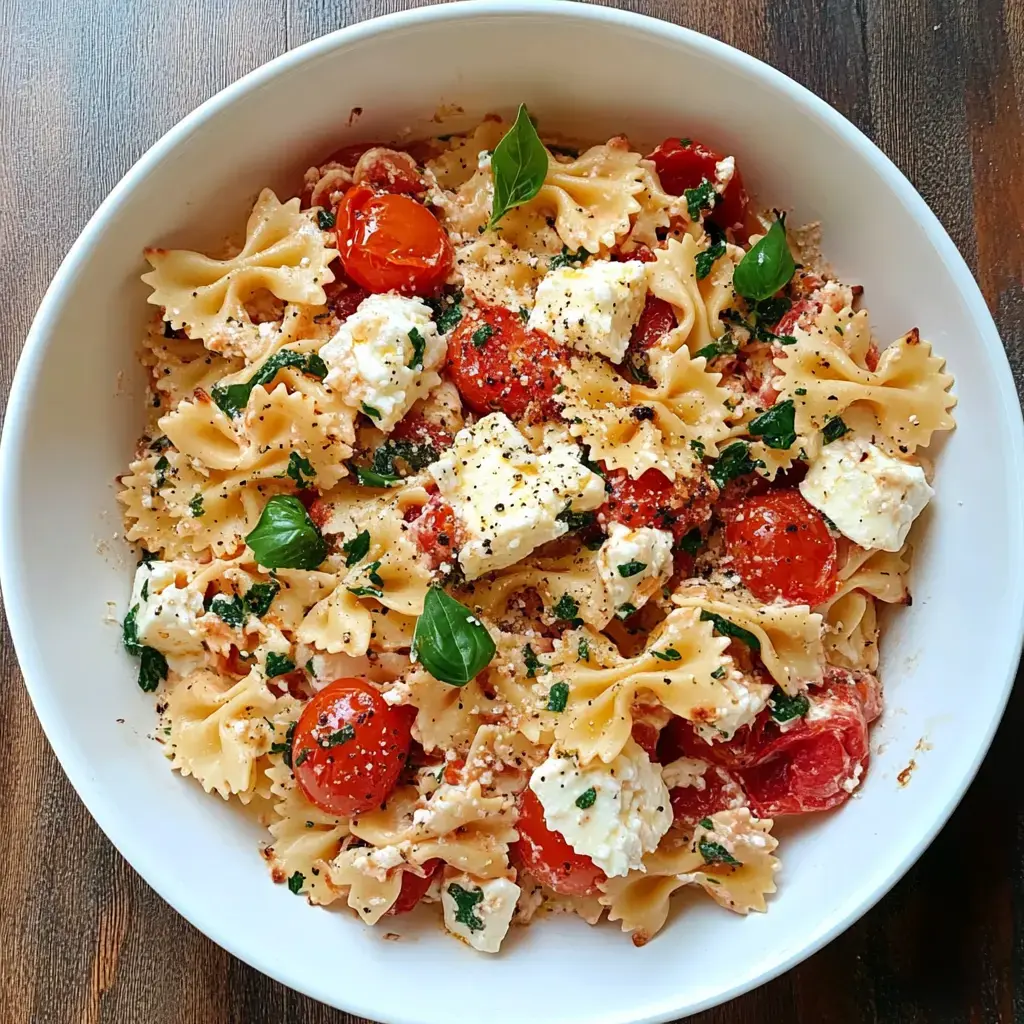
POLYGON ((264 188, 237 255, 213 259, 186 249, 147 249, 153 270, 142 280, 153 289, 148 301, 164 307, 172 328, 231 354, 258 334, 246 309, 258 292, 311 306, 327 302, 324 285, 334 281, 328 264, 338 251, 324 240, 313 213, 300 211, 298 199, 283 204, 264 188))

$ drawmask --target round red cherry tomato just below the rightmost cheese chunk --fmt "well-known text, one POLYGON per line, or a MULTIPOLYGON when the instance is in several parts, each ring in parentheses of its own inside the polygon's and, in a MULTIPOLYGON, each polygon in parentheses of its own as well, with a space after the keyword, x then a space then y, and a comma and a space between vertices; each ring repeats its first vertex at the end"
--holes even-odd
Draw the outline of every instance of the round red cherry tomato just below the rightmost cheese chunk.
POLYGON ((797 489, 748 498, 726 511, 732 567, 759 601, 820 604, 836 591, 836 541, 797 489))

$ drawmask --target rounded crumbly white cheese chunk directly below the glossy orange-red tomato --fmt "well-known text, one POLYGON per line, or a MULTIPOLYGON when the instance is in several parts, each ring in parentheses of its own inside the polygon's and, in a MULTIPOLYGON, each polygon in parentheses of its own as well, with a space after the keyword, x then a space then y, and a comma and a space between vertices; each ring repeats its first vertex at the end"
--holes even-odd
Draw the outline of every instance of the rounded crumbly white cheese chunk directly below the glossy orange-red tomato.
POLYGON ((328 387, 387 432, 440 383, 436 371, 444 351, 430 307, 420 299, 387 292, 364 299, 319 354, 328 367, 328 387), (417 337, 422 354, 417 352, 417 337))

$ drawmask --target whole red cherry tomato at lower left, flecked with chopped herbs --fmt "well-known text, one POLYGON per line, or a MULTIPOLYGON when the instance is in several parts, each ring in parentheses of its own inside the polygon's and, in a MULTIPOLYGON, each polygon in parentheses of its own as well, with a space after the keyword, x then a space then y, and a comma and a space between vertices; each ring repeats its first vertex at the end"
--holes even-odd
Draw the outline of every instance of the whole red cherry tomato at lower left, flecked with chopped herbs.
POLYGON ((394 788, 411 740, 411 709, 392 708, 365 679, 338 679, 302 711, 292 769, 302 792, 329 814, 379 807, 394 788))

